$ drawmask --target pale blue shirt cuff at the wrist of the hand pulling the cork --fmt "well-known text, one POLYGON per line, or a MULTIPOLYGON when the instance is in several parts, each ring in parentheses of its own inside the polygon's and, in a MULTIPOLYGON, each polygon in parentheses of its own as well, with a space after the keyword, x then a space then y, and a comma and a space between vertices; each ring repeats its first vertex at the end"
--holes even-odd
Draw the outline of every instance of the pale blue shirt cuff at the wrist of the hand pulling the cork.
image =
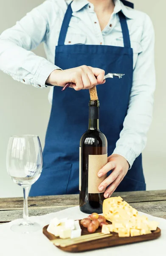
POLYGON ((56 65, 52 64, 49 61, 44 61, 39 68, 37 69, 35 75, 34 75, 34 80, 33 80, 33 85, 35 87, 41 87, 45 88, 47 85, 45 84, 46 80, 48 79, 48 76, 53 72, 53 70, 60 69, 56 65))

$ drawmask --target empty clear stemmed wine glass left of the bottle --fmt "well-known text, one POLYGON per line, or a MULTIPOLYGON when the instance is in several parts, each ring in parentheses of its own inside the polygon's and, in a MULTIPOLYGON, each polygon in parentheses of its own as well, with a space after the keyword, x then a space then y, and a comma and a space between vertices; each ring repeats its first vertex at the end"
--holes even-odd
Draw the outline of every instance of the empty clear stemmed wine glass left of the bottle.
POLYGON ((28 194, 31 185, 42 172, 42 147, 36 135, 12 136, 8 142, 6 166, 14 183, 23 187, 24 210, 23 221, 11 226, 11 230, 19 233, 31 233, 39 230, 38 223, 31 222, 28 217, 28 194))

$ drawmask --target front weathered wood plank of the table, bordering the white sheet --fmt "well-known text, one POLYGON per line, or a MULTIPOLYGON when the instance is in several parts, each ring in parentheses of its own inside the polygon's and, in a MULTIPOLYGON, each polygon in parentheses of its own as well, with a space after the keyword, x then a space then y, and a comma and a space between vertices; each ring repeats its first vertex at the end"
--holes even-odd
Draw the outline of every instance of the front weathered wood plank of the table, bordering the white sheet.
MULTIPOLYGON (((131 203, 132 207, 138 211, 148 213, 150 215, 166 219, 166 201, 131 203)), ((67 209, 70 206, 53 207, 53 208, 34 208, 29 209, 30 216, 45 215, 52 212, 58 212, 67 209)), ((23 210, 7 210, 0 211, 0 221, 12 221, 23 217, 23 210)))

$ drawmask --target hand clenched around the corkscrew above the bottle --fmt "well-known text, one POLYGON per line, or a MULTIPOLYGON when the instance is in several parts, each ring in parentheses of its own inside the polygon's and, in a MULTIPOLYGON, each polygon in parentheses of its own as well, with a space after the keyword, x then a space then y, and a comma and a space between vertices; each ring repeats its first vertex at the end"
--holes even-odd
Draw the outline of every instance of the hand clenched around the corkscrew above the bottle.
POLYGON ((104 70, 90 66, 80 66, 67 70, 54 70, 48 77, 46 84, 64 87, 71 83, 74 90, 90 89, 97 84, 104 84, 104 70))

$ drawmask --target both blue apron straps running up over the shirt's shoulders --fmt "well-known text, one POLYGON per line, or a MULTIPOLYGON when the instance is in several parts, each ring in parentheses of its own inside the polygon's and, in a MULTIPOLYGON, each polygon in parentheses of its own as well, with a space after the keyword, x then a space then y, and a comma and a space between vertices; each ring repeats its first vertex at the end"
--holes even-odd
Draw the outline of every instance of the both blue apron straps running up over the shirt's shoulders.
MULTIPOLYGON (((70 19, 72 17, 72 9, 71 9, 71 3, 68 6, 68 9, 65 13, 65 17, 63 19, 62 22, 62 27, 61 27, 61 31, 59 34, 59 40, 58 40, 58 46, 59 45, 64 45, 65 44, 65 38, 68 32, 68 26, 70 23, 70 19)), ((124 39, 124 47, 128 47, 131 48, 131 44, 130 44, 130 38, 129 38, 129 29, 127 26, 127 20, 126 17, 124 16, 124 14, 122 12, 119 12, 119 19, 121 22, 121 29, 122 29, 122 33, 123 33, 123 39, 124 39)))

